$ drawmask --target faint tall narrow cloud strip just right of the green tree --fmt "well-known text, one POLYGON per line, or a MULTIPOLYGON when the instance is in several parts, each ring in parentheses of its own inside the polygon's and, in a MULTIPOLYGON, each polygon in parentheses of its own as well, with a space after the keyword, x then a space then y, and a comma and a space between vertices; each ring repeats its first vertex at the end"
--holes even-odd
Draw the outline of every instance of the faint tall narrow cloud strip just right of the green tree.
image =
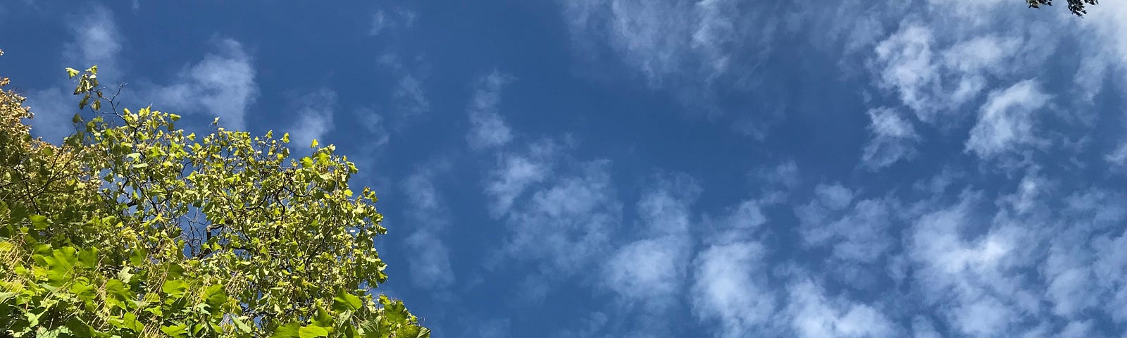
POLYGON ((442 239, 450 215, 434 185, 434 177, 445 172, 447 167, 442 162, 428 163, 426 169, 409 176, 402 187, 410 205, 407 214, 416 229, 406 240, 412 252, 407 256, 408 267, 414 285, 423 288, 442 288, 454 283, 450 250, 442 239))

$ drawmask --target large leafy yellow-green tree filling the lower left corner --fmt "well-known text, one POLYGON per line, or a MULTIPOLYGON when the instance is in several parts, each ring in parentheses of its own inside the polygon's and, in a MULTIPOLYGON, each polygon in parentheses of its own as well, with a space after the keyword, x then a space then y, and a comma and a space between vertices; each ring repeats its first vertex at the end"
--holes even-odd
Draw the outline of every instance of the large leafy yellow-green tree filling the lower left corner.
POLYGON ((289 134, 186 133, 118 109, 97 66, 66 72, 94 117, 61 145, 32 137, 0 79, 0 336, 429 336, 371 294, 387 230, 334 145, 293 158, 289 134))

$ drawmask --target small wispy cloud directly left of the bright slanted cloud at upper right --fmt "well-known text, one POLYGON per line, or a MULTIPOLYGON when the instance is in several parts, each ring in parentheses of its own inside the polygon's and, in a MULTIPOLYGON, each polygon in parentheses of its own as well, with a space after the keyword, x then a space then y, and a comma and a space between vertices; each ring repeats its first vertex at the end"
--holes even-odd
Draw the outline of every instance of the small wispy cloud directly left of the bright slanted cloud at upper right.
POLYGON ((864 166, 876 170, 915 157, 920 136, 909 119, 890 108, 869 109, 869 119, 872 139, 861 158, 864 166))

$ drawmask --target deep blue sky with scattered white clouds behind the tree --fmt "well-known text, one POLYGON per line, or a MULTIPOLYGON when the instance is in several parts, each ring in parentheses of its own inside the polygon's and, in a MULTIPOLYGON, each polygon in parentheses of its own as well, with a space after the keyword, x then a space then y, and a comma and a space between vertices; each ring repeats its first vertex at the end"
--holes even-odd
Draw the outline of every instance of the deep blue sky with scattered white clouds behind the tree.
POLYGON ((1127 337, 1127 3, 1057 1, 9 0, 0 72, 336 144, 434 337, 1127 337))

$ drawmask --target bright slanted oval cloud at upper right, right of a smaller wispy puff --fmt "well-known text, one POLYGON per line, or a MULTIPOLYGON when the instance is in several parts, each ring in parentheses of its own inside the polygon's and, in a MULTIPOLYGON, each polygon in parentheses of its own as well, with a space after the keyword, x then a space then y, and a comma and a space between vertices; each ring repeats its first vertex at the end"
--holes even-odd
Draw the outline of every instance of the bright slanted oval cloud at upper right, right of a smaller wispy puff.
POLYGON ((967 151, 986 159, 1018 145, 1041 142, 1033 134, 1033 113, 1044 107, 1048 98, 1032 80, 992 91, 980 108, 978 123, 970 130, 967 151))

